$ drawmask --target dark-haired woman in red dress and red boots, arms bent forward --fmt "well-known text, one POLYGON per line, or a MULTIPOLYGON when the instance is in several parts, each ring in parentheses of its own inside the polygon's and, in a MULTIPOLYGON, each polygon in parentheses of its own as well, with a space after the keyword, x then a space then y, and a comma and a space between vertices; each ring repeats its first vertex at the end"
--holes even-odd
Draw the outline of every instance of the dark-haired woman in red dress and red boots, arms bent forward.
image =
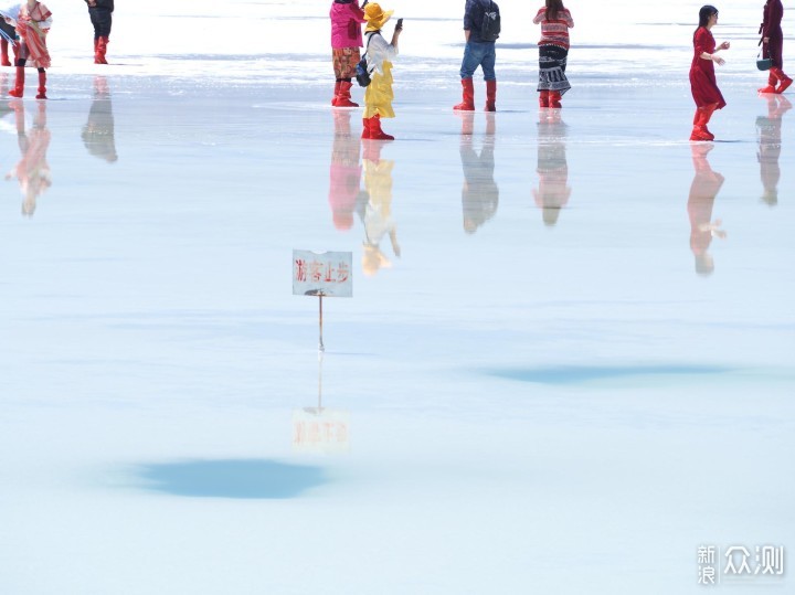
POLYGON ((724 41, 716 46, 710 29, 717 23, 718 9, 709 4, 701 7, 699 26, 693 33, 693 61, 690 66, 690 91, 696 102, 696 116, 690 140, 714 140, 714 135, 707 129, 707 124, 712 117, 712 113, 725 105, 716 81, 714 63, 718 65, 725 63, 718 52, 729 50, 729 42, 724 41))

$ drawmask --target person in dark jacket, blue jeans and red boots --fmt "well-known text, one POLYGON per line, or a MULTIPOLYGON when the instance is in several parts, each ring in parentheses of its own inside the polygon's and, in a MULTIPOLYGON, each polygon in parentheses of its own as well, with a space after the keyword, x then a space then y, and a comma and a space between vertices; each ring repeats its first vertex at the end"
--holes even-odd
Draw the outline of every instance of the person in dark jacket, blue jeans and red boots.
POLYGON ((495 52, 495 42, 486 41, 480 35, 484 19, 491 18, 492 14, 499 14, 499 8, 491 0, 466 0, 464 9, 464 39, 466 40, 466 46, 460 67, 463 99, 453 109, 475 110, 473 76, 477 67, 480 66, 484 81, 486 81, 486 111, 497 111, 497 76, 495 74, 497 54, 495 52))

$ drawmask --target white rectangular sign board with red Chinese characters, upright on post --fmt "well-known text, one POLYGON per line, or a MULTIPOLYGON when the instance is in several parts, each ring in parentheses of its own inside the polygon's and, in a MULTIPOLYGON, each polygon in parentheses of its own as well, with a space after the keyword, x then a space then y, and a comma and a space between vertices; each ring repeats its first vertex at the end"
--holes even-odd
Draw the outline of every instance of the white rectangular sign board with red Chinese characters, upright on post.
POLYGON ((351 297, 353 253, 293 251, 293 294, 351 297))

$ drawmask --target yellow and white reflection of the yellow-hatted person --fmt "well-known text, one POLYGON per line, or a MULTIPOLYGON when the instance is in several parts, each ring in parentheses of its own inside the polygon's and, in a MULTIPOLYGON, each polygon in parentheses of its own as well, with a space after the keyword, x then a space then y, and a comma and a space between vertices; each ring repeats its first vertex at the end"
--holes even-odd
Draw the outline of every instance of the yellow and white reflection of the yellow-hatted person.
POLYGON ((394 161, 381 159, 384 146, 380 140, 363 141, 364 192, 359 196, 357 212, 364 224, 362 270, 374 275, 392 266, 381 249, 381 241, 389 236, 392 252, 400 257, 398 231, 392 219, 392 168, 394 161))

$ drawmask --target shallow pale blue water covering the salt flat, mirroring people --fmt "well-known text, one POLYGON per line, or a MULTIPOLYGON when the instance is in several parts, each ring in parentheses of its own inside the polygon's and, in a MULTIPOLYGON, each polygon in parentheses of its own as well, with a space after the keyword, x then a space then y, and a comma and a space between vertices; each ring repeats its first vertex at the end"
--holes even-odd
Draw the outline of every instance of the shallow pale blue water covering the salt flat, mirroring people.
POLYGON ((0 591, 687 593, 793 543, 788 102, 719 72, 692 146, 668 63, 540 115, 507 60, 462 116, 404 57, 385 145, 315 66, 3 104, 0 591), (353 252, 321 359, 293 248, 353 252))

